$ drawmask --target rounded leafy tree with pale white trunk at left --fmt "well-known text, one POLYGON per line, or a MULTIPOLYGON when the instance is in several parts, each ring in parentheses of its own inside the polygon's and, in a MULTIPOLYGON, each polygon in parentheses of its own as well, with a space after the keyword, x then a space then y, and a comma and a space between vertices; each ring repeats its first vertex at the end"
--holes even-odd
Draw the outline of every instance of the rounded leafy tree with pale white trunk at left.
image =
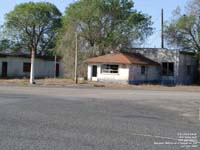
POLYGON ((52 42, 61 27, 61 13, 48 2, 22 3, 6 14, 5 25, 16 45, 31 52, 30 83, 34 84, 35 55, 54 46, 52 42))

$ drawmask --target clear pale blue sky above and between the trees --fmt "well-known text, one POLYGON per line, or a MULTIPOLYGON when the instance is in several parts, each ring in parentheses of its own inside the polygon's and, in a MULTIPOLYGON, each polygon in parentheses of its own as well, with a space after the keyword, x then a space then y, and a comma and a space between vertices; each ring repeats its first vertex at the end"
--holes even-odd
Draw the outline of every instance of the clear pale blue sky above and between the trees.
MULTIPOLYGON (((0 24, 4 22, 4 15, 11 11, 16 4, 22 2, 28 2, 30 0, 1 0, 0 5, 0 24)), ((38 1, 48 1, 55 4, 62 13, 66 6, 75 0, 32 0, 34 2, 38 1)), ((135 2, 135 8, 139 11, 149 14, 152 16, 152 21, 154 22, 153 27, 155 28, 154 34, 147 40, 144 47, 160 47, 160 14, 161 8, 164 9, 164 19, 169 20, 171 18, 172 11, 180 6, 184 9, 188 0, 133 0, 135 2)))

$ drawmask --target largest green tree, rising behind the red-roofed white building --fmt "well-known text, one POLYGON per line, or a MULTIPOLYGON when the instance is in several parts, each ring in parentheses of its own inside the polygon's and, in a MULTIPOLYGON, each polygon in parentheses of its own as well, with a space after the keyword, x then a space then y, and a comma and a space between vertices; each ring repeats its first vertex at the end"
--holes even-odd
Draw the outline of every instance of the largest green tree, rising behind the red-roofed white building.
MULTIPOLYGON (((135 10, 131 0, 76 1, 66 8, 63 23, 58 48, 70 62, 73 62, 75 32, 79 49, 89 50, 92 55, 133 47, 152 34, 151 17, 135 10)), ((83 58, 82 54, 81 51, 83 58)))

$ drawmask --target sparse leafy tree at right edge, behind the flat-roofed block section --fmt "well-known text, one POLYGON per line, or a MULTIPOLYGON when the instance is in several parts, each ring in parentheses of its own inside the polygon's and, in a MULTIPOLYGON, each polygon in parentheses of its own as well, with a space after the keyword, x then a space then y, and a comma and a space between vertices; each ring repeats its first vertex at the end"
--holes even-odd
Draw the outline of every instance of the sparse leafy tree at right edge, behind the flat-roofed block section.
POLYGON ((169 46, 182 50, 200 52, 200 0, 192 0, 181 13, 178 7, 173 19, 167 22, 165 36, 169 46))

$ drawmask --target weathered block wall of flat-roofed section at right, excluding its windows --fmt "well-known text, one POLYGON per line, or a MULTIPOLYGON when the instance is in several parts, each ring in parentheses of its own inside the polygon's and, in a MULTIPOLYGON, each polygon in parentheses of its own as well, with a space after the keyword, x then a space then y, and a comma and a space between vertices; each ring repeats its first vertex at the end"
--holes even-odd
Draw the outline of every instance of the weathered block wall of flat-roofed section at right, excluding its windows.
POLYGON ((197 69, 196 58, 179 50, 168 50, 161 48, 133 48, 125 52, 140 53, 145 57, 160 63, 162 69, 163 62, 174 63, 174 76, 161 76, 161 83, 192 84, 197 69), (192 74, 187 75, 187 65, 191 64, 192 74))

